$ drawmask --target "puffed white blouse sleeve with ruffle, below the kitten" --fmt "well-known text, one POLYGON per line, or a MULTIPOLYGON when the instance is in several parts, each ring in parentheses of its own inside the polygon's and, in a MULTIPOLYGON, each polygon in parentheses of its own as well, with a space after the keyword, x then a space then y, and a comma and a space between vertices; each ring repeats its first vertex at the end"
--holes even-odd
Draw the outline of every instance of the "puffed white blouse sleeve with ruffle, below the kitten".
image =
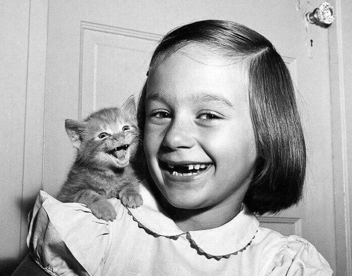
POLYGON ((97 219, 79 203, 61 203, 40 191, 29 215, 27 245, 35 261, 51 275, 104 275, 112 248, 119 246, 130 216, 117 199, 109 200, 117 218, 97 219))

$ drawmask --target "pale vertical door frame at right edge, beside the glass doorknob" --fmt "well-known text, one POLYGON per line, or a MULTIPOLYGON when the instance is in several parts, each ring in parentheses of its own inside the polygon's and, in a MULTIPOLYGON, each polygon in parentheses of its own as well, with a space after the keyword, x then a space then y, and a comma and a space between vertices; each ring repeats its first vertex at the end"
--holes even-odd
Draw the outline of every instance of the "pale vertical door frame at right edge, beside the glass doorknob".
POLYGON ((336 275, 352 275, 351 230, 352 193, 348 178, 352 174, 352 57, 347 54, 352 34, 344 30, 352 26, 352 8, 347 0, 331 1, 336 19, 328 29, 330 53, 330 95, 333 153, 333 186, 335 198, 336 275), (343 7, 343 9, 342 9, 343 7), (349 106, 348 106, 349 103, 349 106), (348 131, 349 128, 349 131, 348 131), (348 177, 349 176, 349 177, 348 177))

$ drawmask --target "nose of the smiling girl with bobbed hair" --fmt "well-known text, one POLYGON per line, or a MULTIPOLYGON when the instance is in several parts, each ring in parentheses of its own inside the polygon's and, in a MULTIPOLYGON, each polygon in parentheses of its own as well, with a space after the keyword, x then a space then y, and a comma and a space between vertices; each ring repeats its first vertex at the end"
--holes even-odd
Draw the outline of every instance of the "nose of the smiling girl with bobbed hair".
POLYGON ((193 134, 194 130, 192 128, 192 122, 180 119, 172 120, 166 130, 162 145, 171 150, 177 150, 178 148, 191 148, 195 143, 193 134))

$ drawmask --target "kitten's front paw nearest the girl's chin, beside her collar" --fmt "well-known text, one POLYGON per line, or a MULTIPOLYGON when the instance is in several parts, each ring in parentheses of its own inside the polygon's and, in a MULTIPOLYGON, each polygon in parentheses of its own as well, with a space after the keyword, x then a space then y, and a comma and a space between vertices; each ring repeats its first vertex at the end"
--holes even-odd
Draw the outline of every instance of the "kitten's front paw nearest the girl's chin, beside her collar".
POLYGON ((143 199, 139 194, 139 182, 136 180, 130 180, 120 190, 119 199, 122 204, 129 208, 137 208, 143 204, 143 199))

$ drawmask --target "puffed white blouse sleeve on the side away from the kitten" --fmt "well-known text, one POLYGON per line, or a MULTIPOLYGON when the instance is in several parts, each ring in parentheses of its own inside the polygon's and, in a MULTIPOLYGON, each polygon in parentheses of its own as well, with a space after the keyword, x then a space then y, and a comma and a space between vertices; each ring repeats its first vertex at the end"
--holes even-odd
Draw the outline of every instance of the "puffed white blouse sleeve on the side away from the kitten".
POLYGON ((298 236, 287 237, 266 276, 331 276, 332 270, 315 247, 298 236))

